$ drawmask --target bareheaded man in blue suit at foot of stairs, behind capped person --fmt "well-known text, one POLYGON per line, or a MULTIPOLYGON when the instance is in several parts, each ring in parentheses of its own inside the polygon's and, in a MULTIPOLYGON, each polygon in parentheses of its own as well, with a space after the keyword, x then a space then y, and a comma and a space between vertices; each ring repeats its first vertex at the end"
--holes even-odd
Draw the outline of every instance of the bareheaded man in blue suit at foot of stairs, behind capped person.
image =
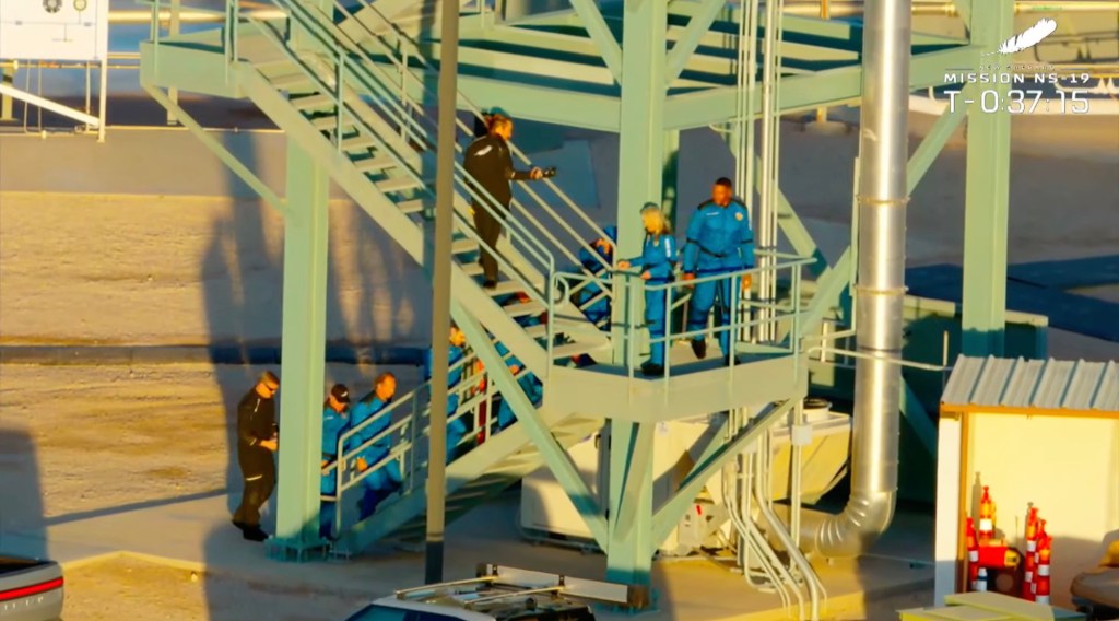
MULTIPOLYGON (((393 423, 392 416, 378 416, 377 414, 393 402, 394 396, 396 396, 396 376, 387 371, 378 375, 374 382, 373 392, 357 402, 350 411, 350 429, 358 429, 358 426, 370 418, 373 418, 373 422, 350 436, 346 445, 347 452, 357 449, 388 429, 393 423)), ((385 459, 391 450, 392 440, 387 436, 366 446, 357 455, 355 464, 357 471, 365 472, 377 465, 377 462, 385 459)), ((401 465, 396 460, 385 463, 378 470, 363 479, 364 493, 360 501, 360 519, 372 516, 377 509, 377 505, 393 493, 403 480, 401 465)))

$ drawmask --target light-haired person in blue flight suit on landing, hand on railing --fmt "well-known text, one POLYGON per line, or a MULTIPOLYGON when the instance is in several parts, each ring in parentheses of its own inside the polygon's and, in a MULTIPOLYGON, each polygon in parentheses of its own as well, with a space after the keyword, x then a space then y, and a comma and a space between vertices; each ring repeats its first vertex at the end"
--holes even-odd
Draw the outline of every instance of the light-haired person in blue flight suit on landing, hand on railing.
MULTIPOLYGON (((676 239, 673 238, 664 211, 656 203, 646 203, 641 207, 641 224, 645 225, 641 256, 619 261, 618 267, 641 270, 641 279, 650 285, 671 282, 673 270, 676 269, 676 239)), ((665 338, 667 299, 668 292, 664 289, 645 292, 645 320, 649 324, 649 337, 652 339, 665 338)), ((665 375, 665 342, 652 342, 649 349, 649 359, 641 365, 641 373, 650 377, 660 377, 665 375)))

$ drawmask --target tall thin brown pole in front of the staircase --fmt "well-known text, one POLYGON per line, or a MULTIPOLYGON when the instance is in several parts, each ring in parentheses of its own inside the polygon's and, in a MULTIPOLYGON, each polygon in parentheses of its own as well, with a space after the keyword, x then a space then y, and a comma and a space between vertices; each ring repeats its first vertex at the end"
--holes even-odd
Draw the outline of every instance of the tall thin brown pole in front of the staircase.
POLYGON ((451 359, 451 230, 454 200, 454 121, 458 112, 459 3, 442 4, 439 67, 439 134, 435 170, 435 255, 432 276, 431 443, 427 458, 427 584, 443 580, 446 516, 446 380, 451 359))

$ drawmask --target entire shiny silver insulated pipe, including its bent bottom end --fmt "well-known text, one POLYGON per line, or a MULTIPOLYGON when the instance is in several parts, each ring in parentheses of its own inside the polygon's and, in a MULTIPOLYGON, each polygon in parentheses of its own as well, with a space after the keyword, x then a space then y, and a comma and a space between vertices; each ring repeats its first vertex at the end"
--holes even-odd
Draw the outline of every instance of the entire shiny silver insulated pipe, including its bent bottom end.
POLYGON ((858 282, 850 499, 841 514, 801 527, 807 553, 852 557, 885 531, 897 493, 905 167, 912 0, 864 3, 859 132, 858 282))

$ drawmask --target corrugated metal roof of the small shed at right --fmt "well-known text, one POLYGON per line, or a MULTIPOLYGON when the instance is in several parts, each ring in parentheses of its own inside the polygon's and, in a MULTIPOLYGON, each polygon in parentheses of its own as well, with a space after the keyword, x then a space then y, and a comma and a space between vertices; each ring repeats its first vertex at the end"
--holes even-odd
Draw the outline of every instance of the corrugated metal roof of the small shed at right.
POLYGON ((1119 412, 1119 364, 960 356, 946 405, 1119 412))

